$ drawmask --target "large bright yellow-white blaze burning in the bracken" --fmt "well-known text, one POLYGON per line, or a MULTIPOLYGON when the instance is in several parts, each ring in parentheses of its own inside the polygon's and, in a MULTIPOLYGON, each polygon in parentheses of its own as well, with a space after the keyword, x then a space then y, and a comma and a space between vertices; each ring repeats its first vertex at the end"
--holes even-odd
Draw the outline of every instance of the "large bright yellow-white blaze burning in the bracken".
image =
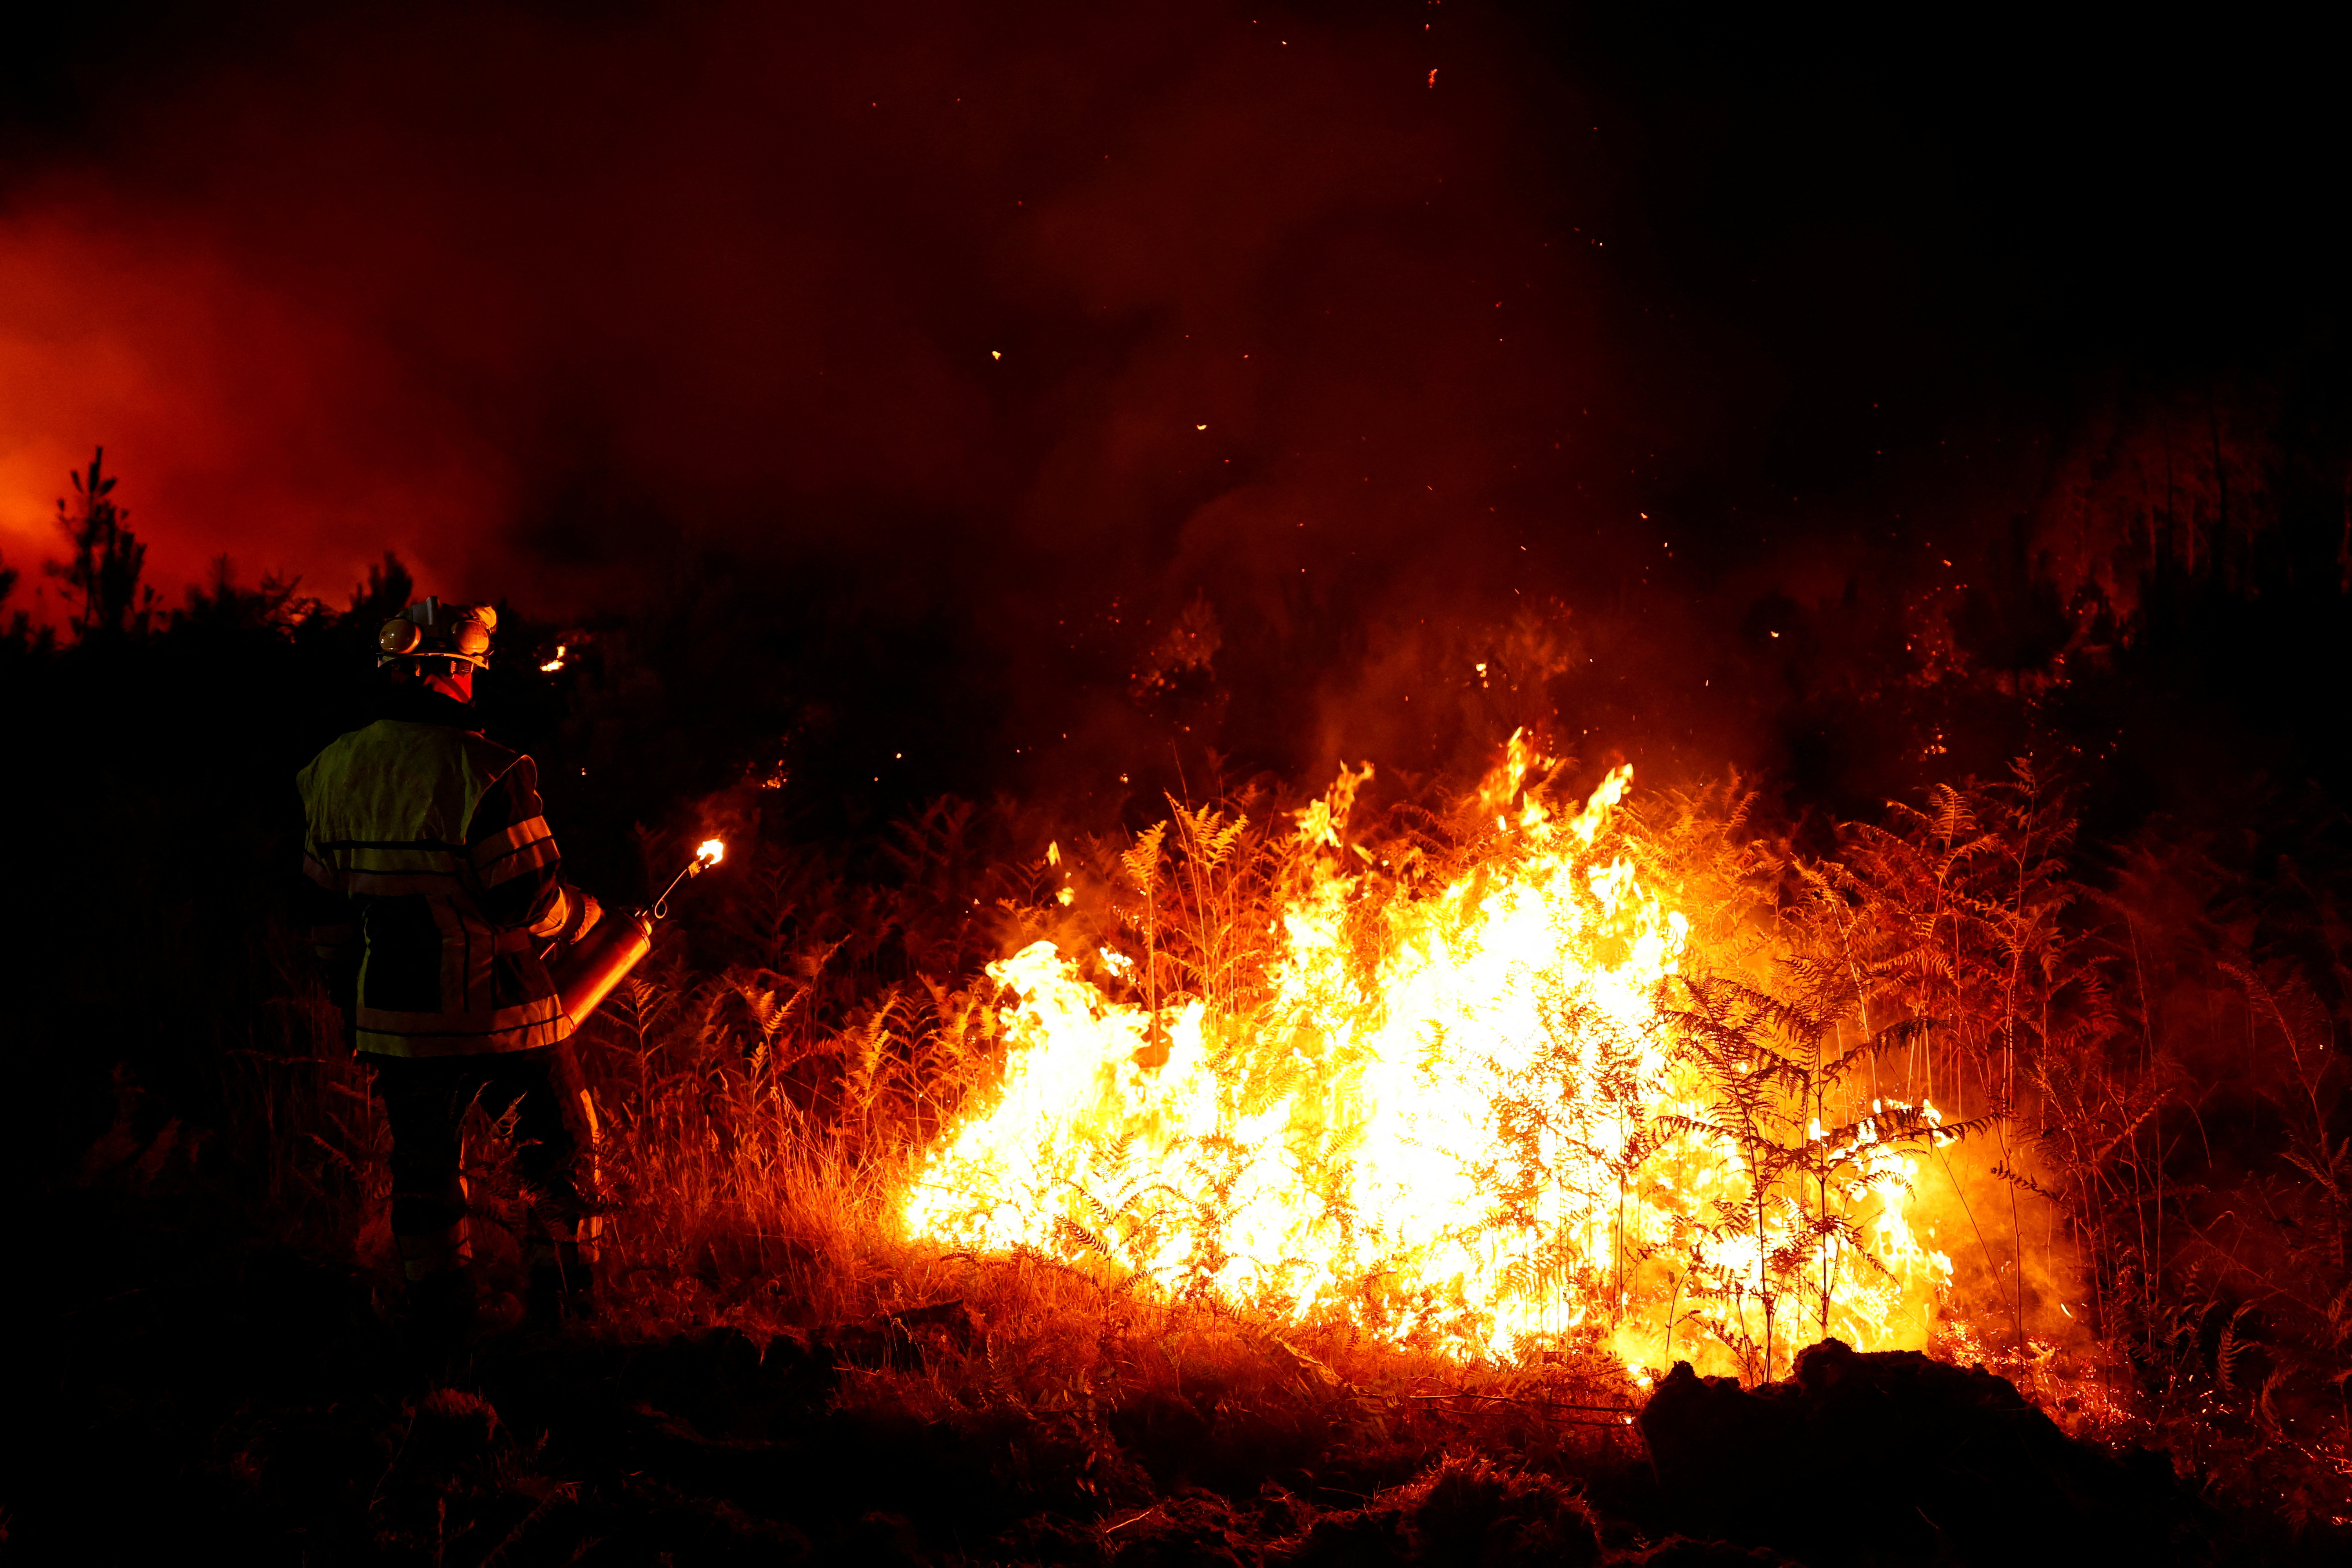
POLYGON ((1936 1110, 1875 1103, 1835 1133, 1797 1117, 1790 1138, 1837 1173, 1818 1222, 1811 1190, 1764 1197, 1780 1178, 1726 1126, 1736 1079, 1710 1093, 1672 1048, 1672 980, 1698 954, 1637 870, 1632 769, 1562 813, 1522 792, 1536 762, 1515 738, 1475 802, 1494 832, 1435 893, 1338 853, 1369 769, 1301 811, 1322 870, 1279 914, 1249 1018, 1200 999, 1152 1018, 1051 943, 993 964, 1014 994, 1002 1084, 924 1159, 908 1232, 1456 1356, 1581 1340, 1630 1368, 1740 1371, 1769 1305, 1769 1361, 1792 1319, 1924 1347, 1952 1265, 1907 1218, 1919 1159, 1898 1128, 1917 1143, 1936 1110))

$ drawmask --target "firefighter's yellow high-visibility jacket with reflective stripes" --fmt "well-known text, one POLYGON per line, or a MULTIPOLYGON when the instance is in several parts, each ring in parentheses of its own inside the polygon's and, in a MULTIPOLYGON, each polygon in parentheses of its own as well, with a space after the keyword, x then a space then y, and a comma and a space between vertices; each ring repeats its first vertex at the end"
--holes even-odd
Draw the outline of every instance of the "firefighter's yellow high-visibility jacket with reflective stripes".
MULTIPOLYGON (((435 712, 433 717, 445 717, 435 712)), ((576 936, 586 900, 522 752, 456 722, 379 719, 296 783, 310 943, 358 950, 355 1044, 379 1056, 553 1046, 572 1032, 539 950, 576 936)))

